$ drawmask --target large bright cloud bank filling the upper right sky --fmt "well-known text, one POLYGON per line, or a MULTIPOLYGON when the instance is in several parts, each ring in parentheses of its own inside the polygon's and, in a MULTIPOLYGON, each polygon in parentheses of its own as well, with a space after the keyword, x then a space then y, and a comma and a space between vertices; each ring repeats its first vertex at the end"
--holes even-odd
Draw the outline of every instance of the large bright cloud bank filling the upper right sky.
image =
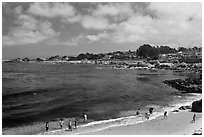
POLYGON ((109 33, 111 37, 107 39, 115 43, 151 44, 201 41, 201 4, 150 3, 146 9, 152 11, 156 18, 142 13, 132 14, 127 20, 115 23, 113 31, 109 33), (189 21, 189 17, 193 19, 189 21))

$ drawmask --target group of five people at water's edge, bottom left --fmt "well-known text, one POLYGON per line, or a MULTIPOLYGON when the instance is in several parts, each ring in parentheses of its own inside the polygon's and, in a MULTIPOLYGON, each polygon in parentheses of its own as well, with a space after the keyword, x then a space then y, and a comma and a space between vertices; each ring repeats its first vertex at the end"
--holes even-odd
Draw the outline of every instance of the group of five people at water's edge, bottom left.
MULTIPOLYGON (((86 122, 87 119, 88 119, 87 114, 86 114, 86 113, 83 113, 83 120, 84 120, 84 122, 86 122)), ((73 127, 72 127, 72 122, 73 122, 73 121, 74 121, 74 127, 75 127, 75 129, 77 128, 78 119, 77 119, 77 118, 70 118, 70 119, 68 120, 68 128, 67 128, 68 131, 72 131, 72 129, 73 129, 73 127)), ((63 125, 64 125, 64 121, 63 121, 63 119, 61 118, 60 121, 59 121, 59 127, 60 127, 60 129, 63 128, 63 125)), ((45 130, 46 130, 46 132, 49 131, 49 122, 48 122, 48 121, 45 123, 45 130)))

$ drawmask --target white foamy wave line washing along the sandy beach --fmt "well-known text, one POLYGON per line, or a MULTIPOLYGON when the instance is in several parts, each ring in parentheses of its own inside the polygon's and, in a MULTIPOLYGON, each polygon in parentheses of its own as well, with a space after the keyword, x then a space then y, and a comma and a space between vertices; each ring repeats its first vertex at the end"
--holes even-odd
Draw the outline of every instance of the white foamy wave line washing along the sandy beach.
MULTIPOLYGON (((161 107, 158 105, 147 105, 146 107, 154 107, 155 111, 153 114, 150 115, 149 120, 156 119, 159 116, 162 116, 164 111, 172 112, 175 109, 178 109, 180 106, 186 106, 191 105, 191 103, 195 100, 201 99, 201 94, 194 94, 191 97, 188 97, 185 100, 182 100, 181 102, 172 102, 172 104, 169 104, 168 106, 161 107)), ((73 132, 73 134, 87 134, 91 132, 96 132, 100 130, 105 130, 111 127, 119 127, 119 126, 128 126, 128 125, 134 125, 142 122, 149 121, 144 116, 145 112, 141 112, 138 116, 125 116, 125 117, 119 117, 114 119, 107 119, 107 120, 100 120, 100 121, 93 121, 84 125, 79 125, 78 128, 85 128, 83 131, 79 132, 73 132), (91 128, 94 127, 94 128, 91 128)), ((60 132, 60 130, 54 130, 50 131, 50 133, 60 132)), ((49 134, 49 133, 48 133, 49 134)))

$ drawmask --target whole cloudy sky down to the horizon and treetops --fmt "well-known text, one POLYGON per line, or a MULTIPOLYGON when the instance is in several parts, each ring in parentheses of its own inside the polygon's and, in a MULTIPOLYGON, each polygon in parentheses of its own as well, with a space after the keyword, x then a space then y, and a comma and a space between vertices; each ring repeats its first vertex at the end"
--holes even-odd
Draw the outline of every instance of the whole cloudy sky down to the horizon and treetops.
POLYGON ((202 44, 201 3, 3 3, 2 56, 202 44))

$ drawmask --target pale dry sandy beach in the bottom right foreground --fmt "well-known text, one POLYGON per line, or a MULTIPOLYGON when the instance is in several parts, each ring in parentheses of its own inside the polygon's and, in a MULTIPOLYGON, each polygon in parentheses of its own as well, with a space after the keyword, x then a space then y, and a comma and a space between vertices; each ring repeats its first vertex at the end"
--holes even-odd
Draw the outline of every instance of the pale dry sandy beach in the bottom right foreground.
POLYGON ((180 112, 169 112, 168 118, 159 116, 145 122, 111 127, 104 130, 98 130, 97 126, 87 126, 74 129, 73 131, 58 130, 44 134, 66 135, 192 135, 195 130, 202 128, 202 113, 194 113, 189 110, 180 112), (196 114, 196 121, 192 123, 193 114, 196 114))

